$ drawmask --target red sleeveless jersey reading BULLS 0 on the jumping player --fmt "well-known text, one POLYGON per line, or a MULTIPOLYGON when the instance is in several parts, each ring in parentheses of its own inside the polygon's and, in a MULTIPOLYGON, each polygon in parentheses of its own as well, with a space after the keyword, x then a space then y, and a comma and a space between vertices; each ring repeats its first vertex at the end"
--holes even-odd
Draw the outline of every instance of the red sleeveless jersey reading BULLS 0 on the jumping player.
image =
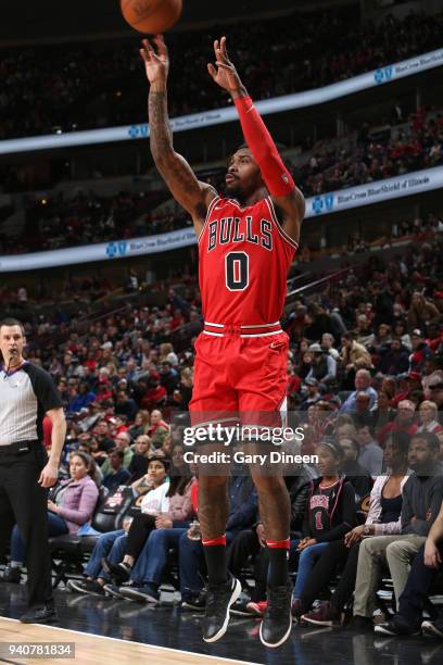
POLYGON ((216 197, 199 237, 199 281, 205 322, 278 322, 298 244, 278 223, 270 197, 240 208, 216 197))

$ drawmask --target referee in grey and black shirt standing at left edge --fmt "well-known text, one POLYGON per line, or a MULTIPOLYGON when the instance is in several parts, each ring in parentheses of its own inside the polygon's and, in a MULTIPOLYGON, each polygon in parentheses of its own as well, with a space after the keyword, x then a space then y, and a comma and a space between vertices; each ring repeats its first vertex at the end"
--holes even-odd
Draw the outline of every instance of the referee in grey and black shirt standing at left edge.
POLYGON ((56 620, 48 543, 48 487, 56 481, 66 434, 62 401, 51 376, 25 361, 23 325, 0 322, 0 559, 17 524, 26 544, 25 624, 56 620), (42 419, 52 421, 51 455, 42 444, 42 419))

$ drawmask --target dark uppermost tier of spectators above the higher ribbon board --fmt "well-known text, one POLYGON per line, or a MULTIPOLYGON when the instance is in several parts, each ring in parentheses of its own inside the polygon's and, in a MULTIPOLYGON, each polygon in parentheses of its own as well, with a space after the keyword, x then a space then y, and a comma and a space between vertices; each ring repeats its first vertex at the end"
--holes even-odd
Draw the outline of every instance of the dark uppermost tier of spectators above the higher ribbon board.
MULTIPOLYGON (((226 34, 233 62, 255 99, 327 85, 441 46, 442 14, 389 15, 359 25, 350 8, 293 13, 204 34, 168 37, 173 116, 223 105, 207 77, 214 38, 226 34), (260 48, 257 48, 260 45, 260 48), (186 58, 182 54, 186 53, 186 58), (275 73, 278 72, 278 77, 275 73)), ((2 49, 0 138, 145 122, 135 40, 2 49), (14 112, 11 113, 11 109, 14 112)))

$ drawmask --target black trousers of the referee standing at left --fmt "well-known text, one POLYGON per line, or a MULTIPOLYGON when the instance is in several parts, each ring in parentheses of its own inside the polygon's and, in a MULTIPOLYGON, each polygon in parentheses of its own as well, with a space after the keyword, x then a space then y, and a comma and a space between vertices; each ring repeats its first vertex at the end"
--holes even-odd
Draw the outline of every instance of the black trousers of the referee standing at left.
POLYGON ((38 484, 47 461, 45 448, 36 441, 0 446, 0 559, 16 524, 26 545, 28 606, 33 608, 53 604, 48 490, 38 484))

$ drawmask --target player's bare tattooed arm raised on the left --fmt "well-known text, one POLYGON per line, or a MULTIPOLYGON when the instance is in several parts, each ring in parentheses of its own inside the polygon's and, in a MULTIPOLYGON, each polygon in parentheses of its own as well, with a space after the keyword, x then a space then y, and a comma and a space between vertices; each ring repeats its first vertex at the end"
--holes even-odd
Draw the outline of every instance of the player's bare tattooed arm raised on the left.
POLYGON ((174 150, 173 133, 167 113, 167 73, 169 59, 161 35, 153 38, 156 52, 144 39, 140 54, 150 83, 148 111, 150 146, 155 165, 176 201, 192 216, 195 231, 200 234, 207 206, 217 192, 195 177, 186 159, 174 150))

